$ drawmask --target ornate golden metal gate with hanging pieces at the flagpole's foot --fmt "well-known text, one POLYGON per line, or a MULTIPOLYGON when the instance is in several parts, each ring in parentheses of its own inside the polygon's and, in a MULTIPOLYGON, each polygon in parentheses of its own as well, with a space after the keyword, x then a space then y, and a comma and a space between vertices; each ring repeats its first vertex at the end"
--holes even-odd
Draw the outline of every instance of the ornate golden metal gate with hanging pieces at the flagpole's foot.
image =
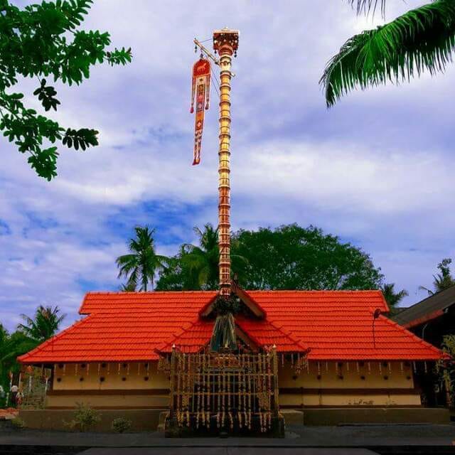
POLYGON ((171 425, 269 432, 279 417, 278 359, 268 353, 181 353, 163 359, 171 376, 171 425))

